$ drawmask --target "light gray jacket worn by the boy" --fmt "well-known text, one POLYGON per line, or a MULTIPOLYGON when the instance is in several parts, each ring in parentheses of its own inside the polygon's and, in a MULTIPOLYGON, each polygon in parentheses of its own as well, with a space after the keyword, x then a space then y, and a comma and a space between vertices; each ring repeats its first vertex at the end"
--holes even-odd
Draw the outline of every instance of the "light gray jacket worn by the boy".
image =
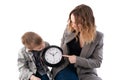
MULTIPOLYGON (((49 46, 45 42, 45 46, 49 46)), ((42 66, 45 71, 48 71, 47 66, 42 66)), ((25 47, 23 47, 18 53, 18 69, 19 69, 19 80, 29 80, 32 74, 36 73, 35 59, 32 52, 28 52, 25 47)))

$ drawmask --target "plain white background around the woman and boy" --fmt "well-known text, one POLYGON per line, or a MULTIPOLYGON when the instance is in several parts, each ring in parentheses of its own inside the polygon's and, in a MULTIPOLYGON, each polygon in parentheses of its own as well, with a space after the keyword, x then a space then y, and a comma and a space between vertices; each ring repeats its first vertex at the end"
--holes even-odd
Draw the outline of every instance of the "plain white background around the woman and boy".
POLYGON ((93 9, 97 30, 104 33, 99 76, 120 80, 119 0, 0 0, 0 80, 18 80, 17 57, 26 31, 59 46, 69 12, 79 4, 93 9))

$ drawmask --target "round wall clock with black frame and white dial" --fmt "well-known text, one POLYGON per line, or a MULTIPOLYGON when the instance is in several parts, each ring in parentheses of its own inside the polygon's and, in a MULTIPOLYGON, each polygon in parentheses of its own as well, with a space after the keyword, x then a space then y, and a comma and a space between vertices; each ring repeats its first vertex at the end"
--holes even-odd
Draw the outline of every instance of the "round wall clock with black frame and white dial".
POLYGON ((44 51, 44 56, 43 59, 49 66, 55 66, 59 64, 63 57, 63 51, 60 47, 58 46, 50 46, 44 51))

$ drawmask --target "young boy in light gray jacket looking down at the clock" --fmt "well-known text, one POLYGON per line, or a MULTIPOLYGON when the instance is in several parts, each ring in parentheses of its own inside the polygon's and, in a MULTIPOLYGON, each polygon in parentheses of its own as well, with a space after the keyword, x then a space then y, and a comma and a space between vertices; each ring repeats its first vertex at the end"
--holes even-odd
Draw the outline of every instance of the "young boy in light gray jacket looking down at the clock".
POLYGON ((24 47, 18 54, 18 68, 20 80, 49 80, 48 67, 41 58, 42 51, 49 43, 35 32, 26 32, 22 36, 24 47))

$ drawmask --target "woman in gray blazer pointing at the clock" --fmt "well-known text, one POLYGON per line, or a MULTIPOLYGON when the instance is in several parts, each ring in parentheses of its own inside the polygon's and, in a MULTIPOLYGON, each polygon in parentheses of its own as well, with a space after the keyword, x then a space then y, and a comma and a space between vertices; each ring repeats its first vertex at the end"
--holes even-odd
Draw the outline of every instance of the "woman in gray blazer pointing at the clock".
POLYGON ((81 4, 70 12, 61 47, 65 62, 52 69, 55 80, 101 80, 96 68, 103 59, 103 34, 96 31, 89 6, 81 4))

